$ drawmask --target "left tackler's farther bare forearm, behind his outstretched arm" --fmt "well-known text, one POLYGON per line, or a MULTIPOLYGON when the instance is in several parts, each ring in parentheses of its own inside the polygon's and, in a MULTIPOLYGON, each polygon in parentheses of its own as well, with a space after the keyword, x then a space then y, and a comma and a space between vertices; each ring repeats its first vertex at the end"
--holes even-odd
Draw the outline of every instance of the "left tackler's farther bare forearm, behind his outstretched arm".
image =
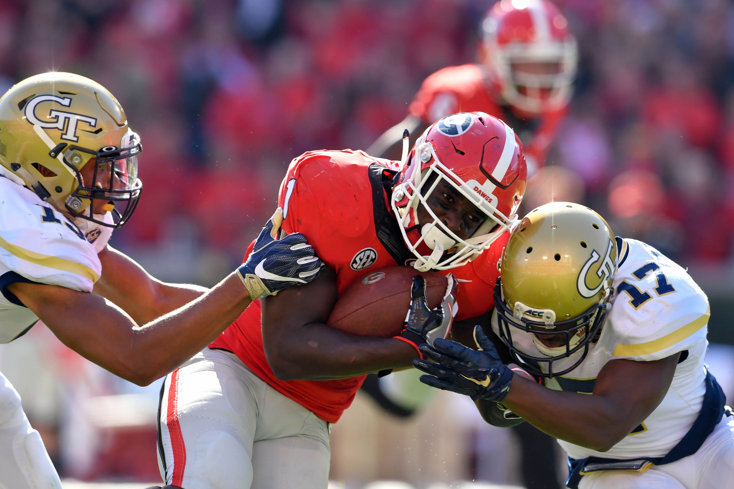
POLYGON ((112 301, 138 324, 178 309, 208 291, 195 284, 161 282, 135 260, 109 245, 98 257, 102 275, 92 292, 112 301))

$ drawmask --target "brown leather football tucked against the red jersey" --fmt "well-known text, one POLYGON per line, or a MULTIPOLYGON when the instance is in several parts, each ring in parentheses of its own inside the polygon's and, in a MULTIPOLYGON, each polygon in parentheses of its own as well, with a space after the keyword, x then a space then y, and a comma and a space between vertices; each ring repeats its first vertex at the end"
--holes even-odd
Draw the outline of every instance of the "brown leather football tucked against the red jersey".
POLYGON ((446 294, 446 277, 419 272, 413 267, 386 267, 371 271, 350 285, 336 301, 329 326, 362 337, 389 338, 400 334, 410 307, 413 276, 426 279, 426 298, 431 308, 446 294))

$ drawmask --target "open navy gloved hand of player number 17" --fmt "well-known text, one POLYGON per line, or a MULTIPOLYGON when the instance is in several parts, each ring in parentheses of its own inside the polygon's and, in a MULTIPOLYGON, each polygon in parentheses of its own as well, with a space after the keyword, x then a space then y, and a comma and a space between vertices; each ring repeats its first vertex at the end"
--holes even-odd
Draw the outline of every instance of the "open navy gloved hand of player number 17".
POLYGON ((512 382, 512 369, 500 361, 495 345, 479 326, 474 327, 474 341, 480 350, 448 339, 437 339, 432 346, 421 345, 421 353, 432 360, 413 360, 413 367, 429 374, 421 375, 421 382, 473 400, 504 400, 512 382))

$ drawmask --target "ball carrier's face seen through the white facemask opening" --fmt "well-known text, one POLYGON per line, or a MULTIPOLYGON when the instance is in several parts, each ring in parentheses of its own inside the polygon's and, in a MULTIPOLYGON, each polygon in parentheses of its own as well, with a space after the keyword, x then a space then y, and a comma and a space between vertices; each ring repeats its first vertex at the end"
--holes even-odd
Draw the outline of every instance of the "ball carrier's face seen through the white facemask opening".
MULTIPOLYGON (((468 239, 474 234, 487 216, 465 196, 441 180, 426 199, 431 210, 459 238, 468 239)), ((433 221, 423 205, 418 205, 418 222, 433 221)))

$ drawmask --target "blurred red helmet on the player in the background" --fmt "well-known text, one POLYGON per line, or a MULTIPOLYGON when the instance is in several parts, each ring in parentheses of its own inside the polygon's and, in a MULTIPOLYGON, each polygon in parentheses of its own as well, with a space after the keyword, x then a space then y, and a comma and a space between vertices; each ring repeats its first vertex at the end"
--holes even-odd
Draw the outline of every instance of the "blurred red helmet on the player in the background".
POLYGON ((567 105, 578 46, 558 7, 548 0, 501 0, 482 29, 484 63, 507 103, 535 114, 567 105))

